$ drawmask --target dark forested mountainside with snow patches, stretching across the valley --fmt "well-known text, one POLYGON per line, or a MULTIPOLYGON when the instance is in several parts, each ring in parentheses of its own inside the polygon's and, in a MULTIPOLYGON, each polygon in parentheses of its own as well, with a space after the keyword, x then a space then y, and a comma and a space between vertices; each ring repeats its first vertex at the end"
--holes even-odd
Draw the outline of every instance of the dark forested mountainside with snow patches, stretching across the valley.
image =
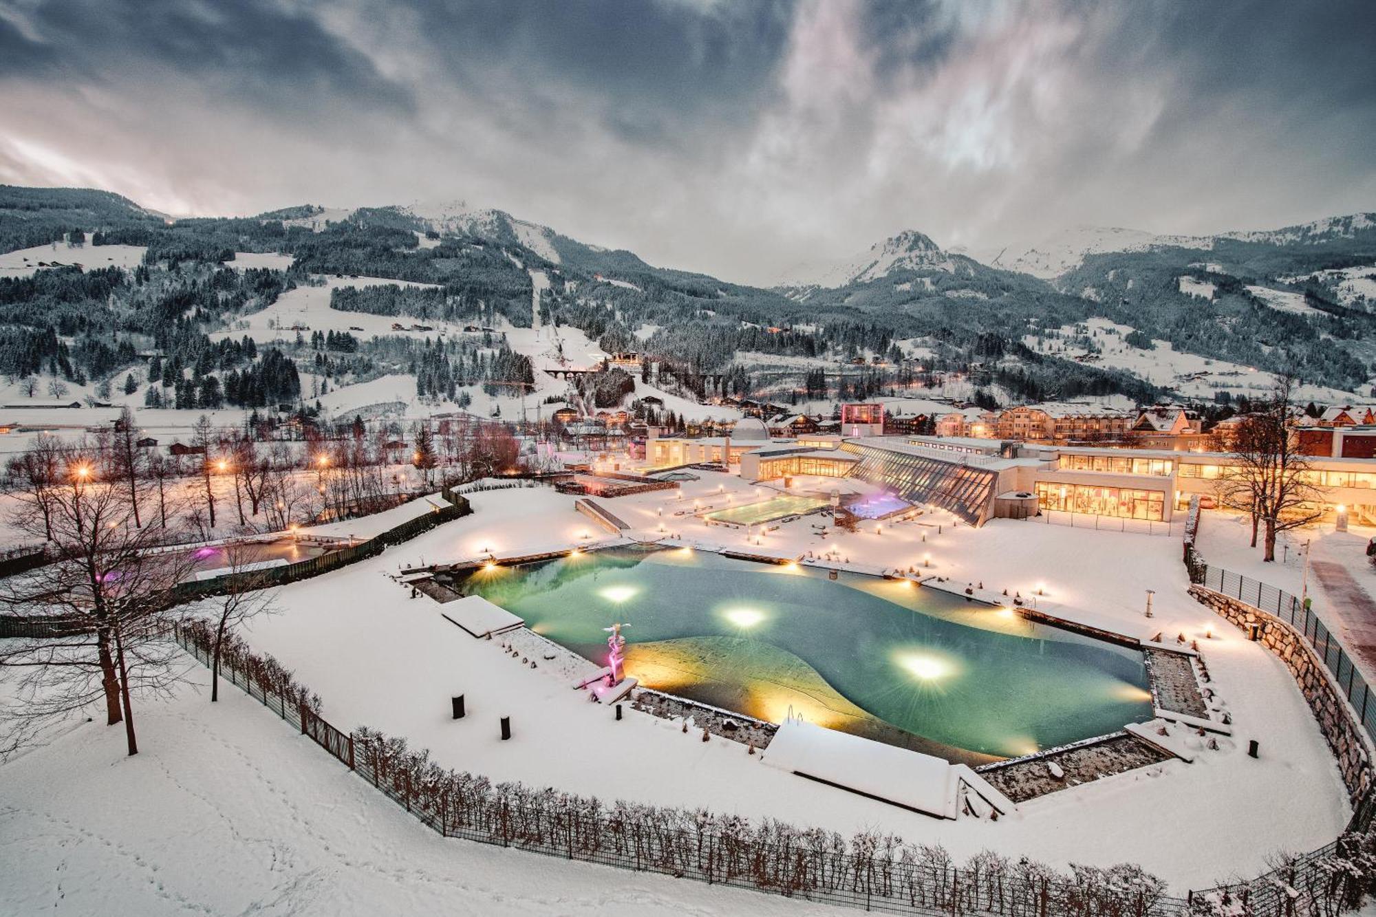
POLYGON ((1131 326, 1126 340, 1134 347, 1164 340, 1346 391, 1365 391, 1376 361, 1376 313, 1353 293, 1364 266, 1376 270, 1376 231, 1359 220, 1325 233, 1218 237, 1207 248, 1088 255, 1053 281, 905 233, 871 249, 839 275, 839 286, 762 289, 654 267, 499 211, 422 213, 299 205, 253 218, 165 220, 102 191, 0 189, 6 251, 58 240, 91 251, 146 248, 133 270, 69 264, 0 275, 0 372, 121 386, 138 372, 160 383, 147 403, 178 406, 319 395, 321 383, 303 391, 290 365, 336 387, 411 375, 421 397, 460 401, 468 386, 528 383, 528 354, 512 350, 501 329, 539 324, 578 328, 607 352, 644 352, 689 392, 702 391, 705 373, 725 375, 725 388, 738 394, 783 384, 827 398, 977 372, 981 384, 1020 401, 1168 394, 1168 384, 1148 383, 1127 363, 1077 362, 1025 343, 1094 317, 1131 326), (260 257, 245 267, 237 253, 260 257), (257 267, 268 255, 278 260, 257 267), (450 322, 487 330, 422 346, 341 325, 308 341, 297 332, 270 362, 264 348, 224 347, 246 317, 288 291, 319 286, 321 275, 399 281, 332 285, 333 311, 389 317, 399 328, 450 322), (161 361, 157 373, 144 365, 149 352, 161 361), (758 377, 761 359, 786 358, 797 366, 791 386, 777 372, 758 377), (861 362, 841 381, 817 375, 861 362))

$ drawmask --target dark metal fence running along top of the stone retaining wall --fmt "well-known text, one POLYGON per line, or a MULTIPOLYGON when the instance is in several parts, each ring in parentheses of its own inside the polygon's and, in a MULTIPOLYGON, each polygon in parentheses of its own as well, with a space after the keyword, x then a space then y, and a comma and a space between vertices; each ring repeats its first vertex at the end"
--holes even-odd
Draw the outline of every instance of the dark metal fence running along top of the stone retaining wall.
POLYGON ((1366 730, 1366 737, 1376 744, 1376 698, 1370 697, 1372 690, 1362 673, 1357 671, 1347 649, 1314 613, 1311 603, 1300 602, 1289 592, 1266 582, 1207 563, 1192 565, 1190 580, 1207 589, 1214 589, 1273 614, 1303 633, 1304 642, 1313 647, 1314 655, 1322 660, 1324 668, 1333 676, 1339 691, 1353 705, 1357 719, 1366 730))

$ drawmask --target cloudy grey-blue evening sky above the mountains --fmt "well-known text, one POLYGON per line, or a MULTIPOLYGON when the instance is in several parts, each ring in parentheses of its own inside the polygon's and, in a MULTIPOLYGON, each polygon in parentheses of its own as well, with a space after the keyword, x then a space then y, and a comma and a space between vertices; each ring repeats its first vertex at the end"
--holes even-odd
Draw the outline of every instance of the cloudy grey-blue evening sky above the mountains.
POLYGON ((464 200, 772 282, 1376 209, 1376 3, 0 0, 0 183, 464 200))

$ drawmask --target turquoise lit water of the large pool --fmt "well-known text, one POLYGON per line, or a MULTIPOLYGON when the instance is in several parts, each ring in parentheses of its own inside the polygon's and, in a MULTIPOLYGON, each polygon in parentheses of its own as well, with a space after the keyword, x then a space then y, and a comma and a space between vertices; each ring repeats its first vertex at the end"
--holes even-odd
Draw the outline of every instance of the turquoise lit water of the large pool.
POLYGON ((603 628, 629 624, 627 672, 649 687, 775 721, 793 708, 936 753, 1025 755, 1152 710, 1137 650, 859 574, 614 549, 476 573, 465 588, 599 662, 603 628))

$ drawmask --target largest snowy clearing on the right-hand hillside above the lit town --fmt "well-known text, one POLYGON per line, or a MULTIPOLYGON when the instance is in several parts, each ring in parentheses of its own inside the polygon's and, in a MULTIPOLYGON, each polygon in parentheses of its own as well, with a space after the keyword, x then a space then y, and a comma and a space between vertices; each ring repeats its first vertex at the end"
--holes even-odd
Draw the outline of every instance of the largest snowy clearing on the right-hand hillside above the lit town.
MULTIPOLYGON (((1189 398, 1211 399, 1218 391, 1265 398, 1276 384, 1276 376, 1269 372, 1178 351, 1165 340, 1154 340, 1153 350, 1131 347, 1123 340, 1134 330, 1131 325, 1119 325, 1106 318, 1090 318, 1083 324, 1098 344, 1099 359, 1093 365, 1127 370, 1189 398)), ((1075 325, 1064 325, 1060 328, 1061 337, 1038 339, 1035 335, 1028 335, 1022 343, 1042 354, 1075 359, 1087 352, 1082 347, 1069 346, 1066 339, 1079 336, 1075 329, 1075 325)), ((1306 384, 1296 390, 1295 398, 1326 405, 1351 402, 1357 395, 1326 386, 1306 384)))

